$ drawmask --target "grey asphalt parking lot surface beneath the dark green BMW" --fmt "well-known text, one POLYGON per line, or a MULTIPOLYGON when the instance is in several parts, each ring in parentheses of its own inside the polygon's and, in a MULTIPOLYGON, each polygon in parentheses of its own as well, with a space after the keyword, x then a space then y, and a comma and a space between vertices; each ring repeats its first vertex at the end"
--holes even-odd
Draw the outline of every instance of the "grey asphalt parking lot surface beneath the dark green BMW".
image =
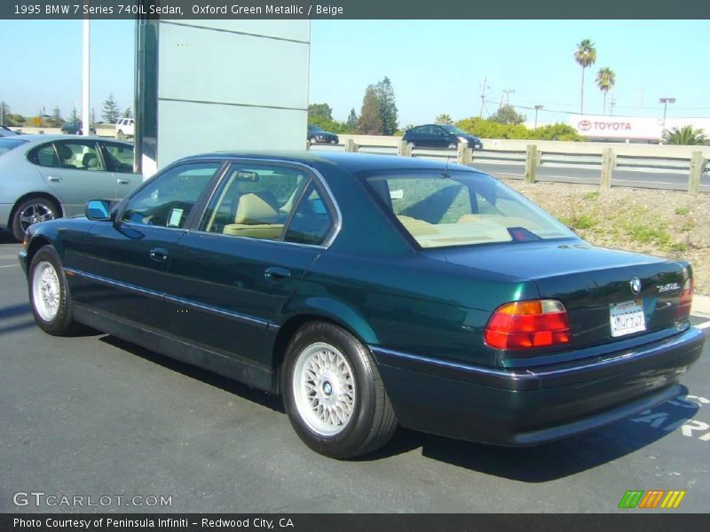
POLYGON ((686 400, 593 433, 502 449, 400 430, 338 462, 298 440, 278 398, 104 334, 44 334, 19 250, 0 233, 0 512, 618 512, 627 489, 710 510, 710 342, 686 400))

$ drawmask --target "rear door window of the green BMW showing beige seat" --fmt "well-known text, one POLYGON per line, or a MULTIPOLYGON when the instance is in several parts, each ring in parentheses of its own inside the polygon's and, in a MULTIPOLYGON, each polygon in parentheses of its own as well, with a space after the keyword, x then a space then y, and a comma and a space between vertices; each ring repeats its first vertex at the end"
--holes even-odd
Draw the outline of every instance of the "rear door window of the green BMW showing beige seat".
POLYGON ((233 165, 210 200, 200 230, 278 240, 308 178, 296 168, 233 165))

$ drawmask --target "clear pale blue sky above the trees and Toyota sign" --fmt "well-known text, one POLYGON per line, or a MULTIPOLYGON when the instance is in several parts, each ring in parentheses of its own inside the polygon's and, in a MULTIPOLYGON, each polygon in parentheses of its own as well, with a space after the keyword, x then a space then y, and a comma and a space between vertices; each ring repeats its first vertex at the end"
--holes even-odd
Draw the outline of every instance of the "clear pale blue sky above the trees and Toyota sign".
MULTIPOLYGON (((0 20, 0 99, 34 115, 81 107, 82 23, 0 20)), ((133 33, 128 20, 96 20, 91 34, 91 98, 100 116, 110 92, 132 106, 133 33)), ((390 77, 400 125, 477 115, 481 86, 487 111, 509 103, 542 105, 540 122, 567 121, 580 110, 576 43, 596 44, 586 71, 585 111, 602 113, 594 78, 609 66, 617 83, 614 114, 660 116, 659 98, 676 98, 670 117, 710 116, 709 20, 315 20, 312 22, 311 103, 326 102, 344 120, 359 111, 369 83, 390 77)), ((609 100, 608 100, 609 101, 609 100)))

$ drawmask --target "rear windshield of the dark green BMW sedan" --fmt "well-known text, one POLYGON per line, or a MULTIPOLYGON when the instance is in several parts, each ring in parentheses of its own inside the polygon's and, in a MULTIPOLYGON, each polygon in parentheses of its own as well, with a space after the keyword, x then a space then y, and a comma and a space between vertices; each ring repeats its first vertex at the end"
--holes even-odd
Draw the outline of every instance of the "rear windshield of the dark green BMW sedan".
POLYGON ((406 171, 366 180, 385 210, 421 247, 576 238, 555 218, 485 174, 406 171))

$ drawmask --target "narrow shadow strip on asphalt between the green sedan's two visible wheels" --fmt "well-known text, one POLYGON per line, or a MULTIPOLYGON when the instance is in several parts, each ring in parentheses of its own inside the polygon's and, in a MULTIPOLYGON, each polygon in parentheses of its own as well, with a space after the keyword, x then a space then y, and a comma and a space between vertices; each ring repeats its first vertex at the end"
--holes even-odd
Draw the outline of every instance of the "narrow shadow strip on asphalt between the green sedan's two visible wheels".
POLYGON ((99 338, 100 341, 107 343, 114 348, 119 348, 129 353, 145 358, 146 360, 162 365, 162 367, 172 370, 173 372, 182 373, 185 377, 190 377, 191 379, 198 379, 209 384, 210 386, 218 387, 225 392, 230 394, 239 395, 243 399, 247 399, 253 403, 261 404, 272 411, 279 411, 285 413, 283 408, 283 403, 278 395, 267 394, 262 390, 257 390, 255 388, 248 387, 245 384, 241 384, 233 379, 227 379, 217 373, 209 372, 208 370, 203 370, 197 366, 191 364, 185 364, 170 356, 163 356, 160 353, 151 351, 150 349, 141 348, 136 344, 132 344, 128 341, 121 340, 110 334, 106 334, 99 338))

